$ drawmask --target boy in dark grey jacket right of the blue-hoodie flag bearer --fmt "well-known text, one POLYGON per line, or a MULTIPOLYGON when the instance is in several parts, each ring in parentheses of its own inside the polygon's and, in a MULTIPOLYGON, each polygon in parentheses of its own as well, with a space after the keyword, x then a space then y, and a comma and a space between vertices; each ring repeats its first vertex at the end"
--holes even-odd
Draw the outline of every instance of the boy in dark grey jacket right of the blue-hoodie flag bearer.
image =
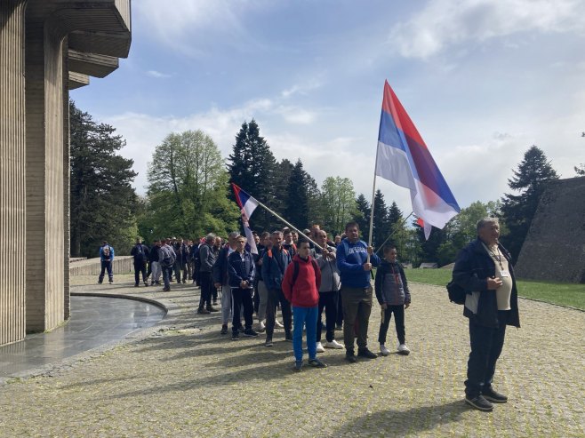
POLYGON ((382 309, 378 342, 380 342, 380 354, 383 356, 390 354, 385 344, 392 314, 394 314, 394 323, 397 328, 398 354, 410 353, 405 343, 405 308, 411 304, 411 294, 406 282, 405 269, 397 262, 397 255, 396 247, 385 246, 384 260, 376 272, 376 298, 382 309))

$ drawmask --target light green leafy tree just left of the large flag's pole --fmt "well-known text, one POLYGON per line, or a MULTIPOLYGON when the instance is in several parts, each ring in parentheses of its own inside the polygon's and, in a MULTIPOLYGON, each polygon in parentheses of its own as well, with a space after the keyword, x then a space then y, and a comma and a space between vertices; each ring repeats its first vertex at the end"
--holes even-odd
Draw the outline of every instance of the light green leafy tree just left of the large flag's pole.
POLYGON ((345 224, 357 214, 356 192, 351 179, 328 177, 321 186, 324 227, 342 233, 345 224))

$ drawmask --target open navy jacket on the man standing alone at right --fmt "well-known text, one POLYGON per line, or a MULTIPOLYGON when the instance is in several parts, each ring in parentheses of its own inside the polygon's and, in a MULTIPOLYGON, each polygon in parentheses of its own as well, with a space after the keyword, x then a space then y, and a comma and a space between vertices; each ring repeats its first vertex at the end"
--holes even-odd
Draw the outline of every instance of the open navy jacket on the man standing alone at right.
MULTIPOLYGON (((510 296, 510 315, 508 325, 520 327, 518 314, 518 291, 516 276, 512 267, 511 256, 501 244, 498 244, 501 254, 508 260, 509 273, 512 276, 512 293, 510 296)), ((486 327, 498 326, 498 301, 495 291, 488 291, 487 278, 495 275, 495 263, 485 251, 481 240, 477 238, 469 243, 457 255, 453 267, 453 282, 469 291, 463 307, 463 315, 478 325, 486 327)))

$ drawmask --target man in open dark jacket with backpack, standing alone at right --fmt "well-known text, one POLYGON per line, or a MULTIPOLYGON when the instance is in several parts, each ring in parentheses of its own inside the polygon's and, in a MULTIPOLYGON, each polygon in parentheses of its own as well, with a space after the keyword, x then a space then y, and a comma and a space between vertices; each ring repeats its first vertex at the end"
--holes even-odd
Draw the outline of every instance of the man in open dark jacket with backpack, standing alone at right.
POLYGON ((493 389, 493 375, 506 326, 520 327, 514 269, 499 237, 498 219, 479 220, 477 239, 460 251, 453 267, 453 281, 468 291, 463 315, 469 318, 471 353, 465 402, 485 411, 493 410, 492 402, 508 401, 493 389))

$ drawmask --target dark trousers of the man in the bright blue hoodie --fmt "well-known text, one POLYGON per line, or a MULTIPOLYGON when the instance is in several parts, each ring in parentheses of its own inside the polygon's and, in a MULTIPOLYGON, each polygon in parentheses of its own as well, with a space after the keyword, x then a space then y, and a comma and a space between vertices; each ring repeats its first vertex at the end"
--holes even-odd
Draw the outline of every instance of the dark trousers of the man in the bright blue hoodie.
POLYGON ((367 347, 368 323, 372 313, 372 286, 349 288, 341 286, 343 299, 343 343, 346 354, 353 354, 354 334, 357 334, 357 349, 367 347), (357 325, 356 325, 357 324, 357 325), (354 327, 357 330, 354 331, 354 327))

